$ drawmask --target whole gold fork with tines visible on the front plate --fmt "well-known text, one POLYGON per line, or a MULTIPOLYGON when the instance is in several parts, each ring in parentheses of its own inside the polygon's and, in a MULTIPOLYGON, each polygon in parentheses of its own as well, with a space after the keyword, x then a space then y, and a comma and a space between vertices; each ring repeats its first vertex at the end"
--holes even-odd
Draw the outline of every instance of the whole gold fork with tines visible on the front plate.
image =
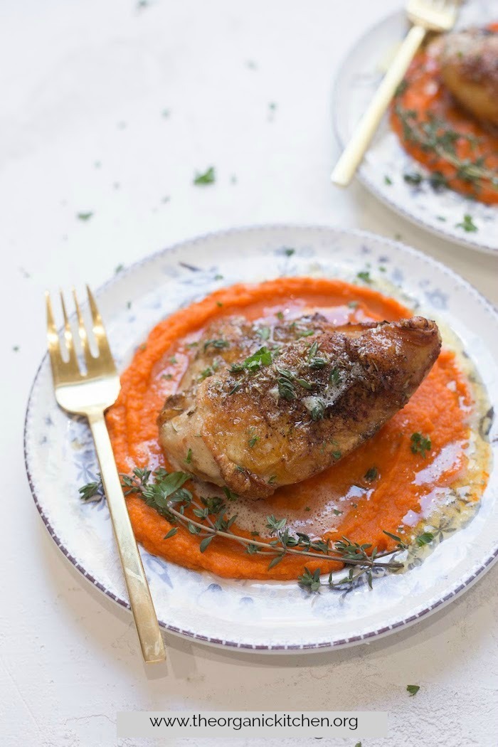
POLYGON ((122 570, 130 598, 137 633, 140 639, 143 658, 146 663, 164 661, 166 653, 159 630, 158 617, 149 591, 146 574, 137 548, 131 521, 122 493, 121 481, 114 461, 111 439, 105 424, 104 412, 116 402, 121 385, 114 365, 108 338, 105 334, 102 317, 99 314, 90 288, 87 286, 90 313, 92 315, 92 332, 96 342, 97 356, 90 351, 87 329, 81 316, 75 291, 72 291, 76 316, 78 319, 78 337, 84 356, 86 373, 78 365, 75 343, 71 326, 66 313, 66 305, 61 292, 60 303, 64 319, 61 346, 59 334, 54 322, 52 303, 49 293, 46 294, 47 339, 49 343, 52 376, 54 378, 55 399, 67 412, 86 415, 92 431, 97 456, 99 457, 102 483, 108 501, 113 524, 116 545, 119 551, 122 570), (64 352, 65 348, 65 352, 64 352))

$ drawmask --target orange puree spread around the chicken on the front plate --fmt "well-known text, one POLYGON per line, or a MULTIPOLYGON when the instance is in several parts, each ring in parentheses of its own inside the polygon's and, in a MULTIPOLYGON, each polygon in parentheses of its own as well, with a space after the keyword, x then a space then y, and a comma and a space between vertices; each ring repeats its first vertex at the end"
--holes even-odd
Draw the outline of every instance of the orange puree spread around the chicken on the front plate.
MULTIPOLYGON (((199 337, 207 323, 232 314, 251 320, 273 317, 278 311, 296 314, 299 307, 319 309, 337 323, 392 321, 412 315, 396 300, 371 288, 311 278, 233 285, 176 311, 155 326, 146 344, 137 350, 122 374, 119 398, 108 412, 119 471, 130 473, 134 467, 146 466, 169 468, 158 444, 156 418, 193 355, 189 343, 199 337), (355 303, 349 306, 349 302, 355 303)), ((465 484, 472 404, 467 379, 458 369, 455 354, 443 350, 408 404, 376 436, 322 474, 278 489, 270 499, 245 503, 245 510, 249 506, 249 511, 262 518, 269 514, 286 516, 293 530, 310 536, 347 536, 379 549, 392 548, 394 542, 383 530, 401 532, 410 539, 412 527, 422 518, 421 506, 427 508, 438 491, 447 495, 453 486, 465 484), (425 459, 411 451, 411 434, 417 432, 432 441, 425 459), (379 477, 367 483, 364 476, 373 467, 379 477), (414 521, 408 521, 407 516, 413 516, 414 521)), ((196 492, 195 485, 188 487, 196 492)), ((470 495, 470 500, 478 498, 470 495)), ((236 542, 218 537, 201 553, 199 539, 184 527, 164 540, 169 522, 140 498, 131 495, 127 501, 137 540, 153 554, 188 568, 205 568, 222 577, 290 579, 296 578, 305 565, 321 567, 324 572, 333 567, 323 559, 314 562, 308 557, 303 562, 299 557, 287 557, 267 571, 267 559, 250 556, 236 542)), ((237 513, 237 502, 229 504, 229 511, 237 513)), ((232 530, 249 536, 246 527, 234 525, 232 530)))

